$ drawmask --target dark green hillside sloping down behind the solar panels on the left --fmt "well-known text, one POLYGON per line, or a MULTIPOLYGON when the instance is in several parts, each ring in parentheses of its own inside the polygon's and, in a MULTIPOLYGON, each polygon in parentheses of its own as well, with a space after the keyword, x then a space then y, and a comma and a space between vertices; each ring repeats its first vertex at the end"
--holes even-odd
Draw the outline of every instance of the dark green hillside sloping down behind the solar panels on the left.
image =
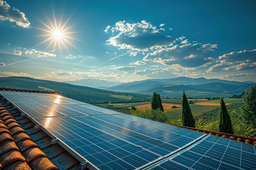
POLYGON ((65 97, 90 104, 133 103, 149 101, 150 95, 101 90, 62 82, 33 79, 30 77, 1 77, 0 87, 26 90, 54 91, 65 97), (127 96, 126 96, 127 94, 127 96))

